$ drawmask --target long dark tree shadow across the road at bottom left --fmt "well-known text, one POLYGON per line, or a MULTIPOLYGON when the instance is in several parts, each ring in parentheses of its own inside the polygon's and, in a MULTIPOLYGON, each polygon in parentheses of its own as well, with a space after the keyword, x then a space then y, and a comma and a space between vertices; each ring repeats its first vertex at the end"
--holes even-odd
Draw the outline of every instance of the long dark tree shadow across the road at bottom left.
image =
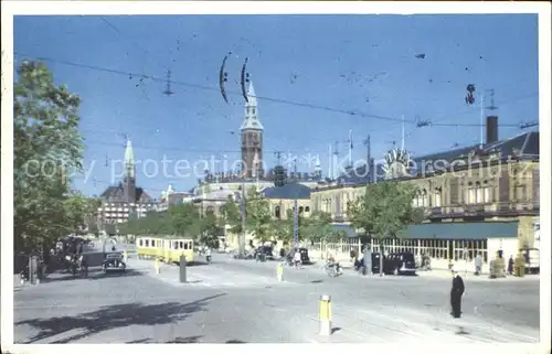
POLYGON ((39 334, 31 337, 24 344, 42 341, 64 332, 79 330, 78 334, 52 342, 70 343, 104 331, 126 328, 132 324, 156 325, 179 322, 187 319, 191 313, 206 311, 206 304, 210 300, 224 294, 225 293, 219 293, 189 303, 125 303, 109 305, 97 311, 81 313, 75 317, 33 319, 17 322, 14 325, 29 324, 40 329, 39 334))

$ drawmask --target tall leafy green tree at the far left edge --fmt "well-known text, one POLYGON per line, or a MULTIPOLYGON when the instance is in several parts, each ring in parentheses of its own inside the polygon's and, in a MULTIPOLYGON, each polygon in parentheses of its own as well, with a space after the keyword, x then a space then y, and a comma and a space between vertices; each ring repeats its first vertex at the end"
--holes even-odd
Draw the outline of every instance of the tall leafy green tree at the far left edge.
POLYGON ((14 246, 38 250, 84 224, 70 175, 82 172, 78 96, 54 85, 44 63, 18 67, 13 97, 14 246), (78 211, 72 210, 79 207, 78 211))

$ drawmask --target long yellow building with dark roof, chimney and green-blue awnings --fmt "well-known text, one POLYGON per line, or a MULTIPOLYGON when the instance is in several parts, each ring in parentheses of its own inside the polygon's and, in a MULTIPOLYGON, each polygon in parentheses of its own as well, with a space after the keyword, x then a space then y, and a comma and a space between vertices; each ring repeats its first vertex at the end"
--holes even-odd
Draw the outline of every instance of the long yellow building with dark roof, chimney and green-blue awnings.
MULTIPOLYGON (((376 165, 375 170, 381 180, 392 169, 376 165)), ((540 210, 538 131, 499 141, 498 119, 488 117, 482 146, 415 158, 406 171, 395 180, 416 186, 413 204, 423 208, 425 221, 410 225, 401 233, 402 240, 392 243, 427 247, 432 256, 447 259, 466 253, 473 258, 479 251, 487 258, 491 256, 487 251, 497 247, 507 248, 510 256, 533 246, 540 210)), ((342 183, 311 193, 312 208, 330 213, 351 236, 357 233, 349 226, 348 203, 363 195, 370 183, 353 179, 357 183, 347 183, 351 178, 344 176, 342 183)))

